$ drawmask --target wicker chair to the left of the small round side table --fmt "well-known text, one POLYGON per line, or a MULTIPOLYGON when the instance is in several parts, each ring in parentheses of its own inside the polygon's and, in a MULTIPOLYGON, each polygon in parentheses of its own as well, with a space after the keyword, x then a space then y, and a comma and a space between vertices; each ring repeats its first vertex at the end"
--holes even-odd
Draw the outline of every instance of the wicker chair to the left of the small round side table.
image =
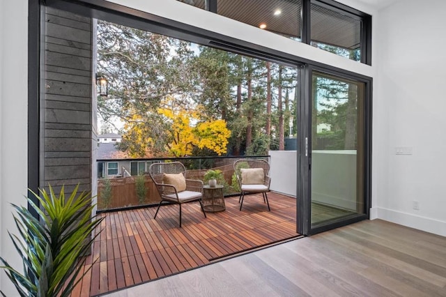
POLYGON ((201 211, 201 196, 203 195, 203 182, 198 180, 186 179, 186 169, 180 162, 154 163, 149 167, 150 174, 156 189, 160 194, 161 201, 155 213, 155 219, 162 201, 180 205, 180 227, 181 227, 181 204, 190 201, 199 201, 201 211), (174 179, 172 179, 174 176, 174 179), (175 179, 177 178, 177 179, 175 179), (179 181, 178 181, 179 178, 179 181))

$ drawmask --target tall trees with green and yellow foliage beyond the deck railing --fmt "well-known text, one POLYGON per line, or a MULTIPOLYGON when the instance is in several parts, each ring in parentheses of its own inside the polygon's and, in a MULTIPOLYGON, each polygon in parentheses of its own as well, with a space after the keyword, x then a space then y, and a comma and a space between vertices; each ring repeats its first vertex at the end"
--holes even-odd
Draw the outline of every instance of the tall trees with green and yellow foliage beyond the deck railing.
POLYGON ((122 150, 143 157, 284 149, 297 69, 107 22, 98 32, 98 68, 111 82, 98 105, 105 120, 125 122, 122 150), (182 112, 167 119, 160 109, 182 112))

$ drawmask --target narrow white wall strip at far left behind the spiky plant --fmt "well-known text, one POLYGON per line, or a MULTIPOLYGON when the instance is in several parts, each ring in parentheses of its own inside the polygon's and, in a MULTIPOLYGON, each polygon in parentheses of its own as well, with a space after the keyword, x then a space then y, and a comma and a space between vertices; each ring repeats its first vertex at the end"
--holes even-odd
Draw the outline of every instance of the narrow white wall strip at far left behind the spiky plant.
MULTIPOLYGON (((10 203, 24 205, 27 174, 28 1, 0 1, 0 255, 22 269, 8 238, 17 234, 10 203)), ((17 296, 0 271, 0 289, 17 296)))

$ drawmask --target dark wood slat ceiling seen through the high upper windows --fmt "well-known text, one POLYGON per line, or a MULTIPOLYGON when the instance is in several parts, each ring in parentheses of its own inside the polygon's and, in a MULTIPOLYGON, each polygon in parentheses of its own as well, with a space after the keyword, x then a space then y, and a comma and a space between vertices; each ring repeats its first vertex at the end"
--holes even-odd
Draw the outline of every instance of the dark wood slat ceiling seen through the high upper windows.
MULTIPOLYGON (((204 0, 178 0, 205 8, 204 0)), ((301 28, 300 0, 217 0, 217 13, 252 26, 266 24, 266 30, 298 39, 301 28), (280 15, 274 15, 280 9, 280 15)), ((312 4, 312 40, 356 49, 360 45, 360 20, 312 4)))

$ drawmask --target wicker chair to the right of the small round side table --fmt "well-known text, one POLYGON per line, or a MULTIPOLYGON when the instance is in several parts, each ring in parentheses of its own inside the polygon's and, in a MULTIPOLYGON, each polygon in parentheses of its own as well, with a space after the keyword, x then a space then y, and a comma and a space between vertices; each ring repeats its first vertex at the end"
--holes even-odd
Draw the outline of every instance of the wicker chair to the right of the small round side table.
POLYGON ((270 204, 266 195, 270 191, 271 183, 271 178, 268 176, 270 172, 268 162, 266 160, 237 160, 234 162, 234 172, 236 172, 238 185, 240 185, 240 199, 238 199, 240 211, 246 193, 262 193, 263 202, 266 202, 268 211, 270 211, 270 204), (252 178, 251 174, 256 176, 252 178))

